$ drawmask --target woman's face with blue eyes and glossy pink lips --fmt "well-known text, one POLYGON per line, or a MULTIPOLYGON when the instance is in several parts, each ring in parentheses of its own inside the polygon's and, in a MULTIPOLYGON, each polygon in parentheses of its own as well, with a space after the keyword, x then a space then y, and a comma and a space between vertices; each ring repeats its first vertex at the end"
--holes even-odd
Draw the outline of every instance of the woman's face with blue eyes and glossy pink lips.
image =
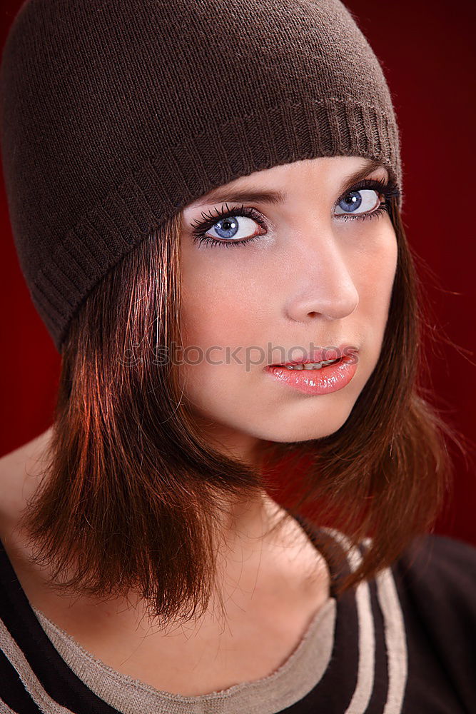
MULTIPOLYGON (((369 164, 333 156, 275 166, 183 210, 183 398, 234 456, 245 458, 262 439, 307 441, 337 431, 375 368, 397 241, 388 213, 374 213, 385 198, 379 188, 349 183, 358 171, 388 181, 383 167, 365 173, 369 164), (280 200, 233 198, 245 189, 279 192, 280 200), (219 215, 222 208, 231 209, 228 218, 219 215), (202 213, 208 222, 199 232, 221 244, 193 241, 202 213), (335 367, 270 369, 313 349, 343 346, 357 351, 355 364, 337 377, 335 367), (293 386, 303 380, 308 387, 293 386)), ((325 358, 339 356, 334 349, 325 358)))

